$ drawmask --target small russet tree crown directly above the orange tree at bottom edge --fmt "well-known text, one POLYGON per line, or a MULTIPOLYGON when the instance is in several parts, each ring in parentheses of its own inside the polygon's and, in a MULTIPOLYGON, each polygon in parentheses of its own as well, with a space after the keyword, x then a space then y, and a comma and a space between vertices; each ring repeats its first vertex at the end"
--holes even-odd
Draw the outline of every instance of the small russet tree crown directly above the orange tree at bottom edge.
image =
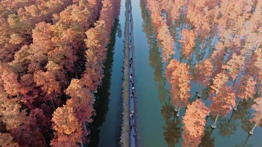
POLYGON ((213 74, 213 68, 213 63, 210 58, 198 63, 194 70, 193 81, 208 87, 213 74))

